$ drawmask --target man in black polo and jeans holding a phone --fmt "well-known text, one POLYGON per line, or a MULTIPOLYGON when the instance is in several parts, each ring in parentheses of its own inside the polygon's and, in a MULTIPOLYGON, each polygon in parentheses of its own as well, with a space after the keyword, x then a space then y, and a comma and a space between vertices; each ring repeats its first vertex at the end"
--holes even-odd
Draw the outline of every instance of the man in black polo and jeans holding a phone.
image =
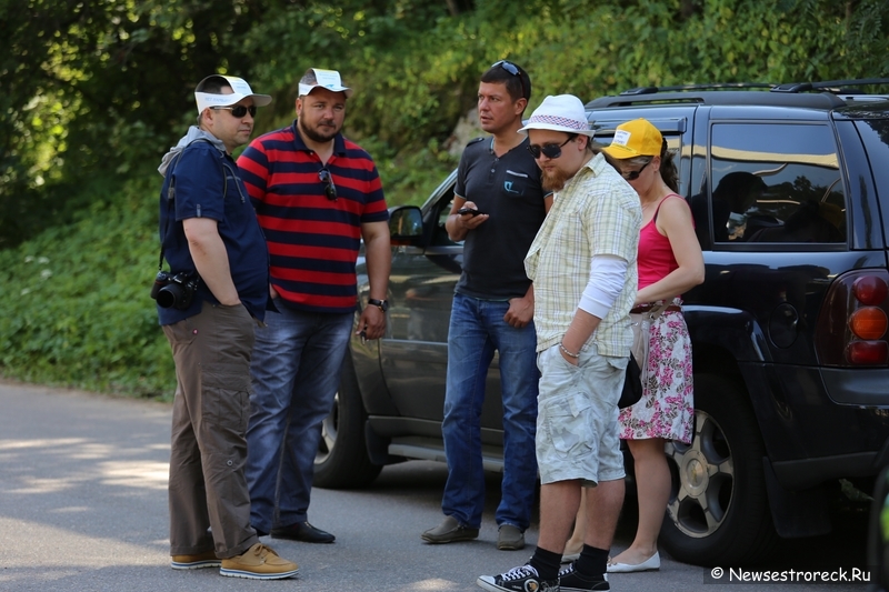
POLYGON ((508 61, 495 63, 479 84, 479 121, 491 136, 463 151, 446 228, 465 240, 448 330, 444 452, 448 483, 444 520, 422 534, 429 543, 476 539, 485 509, 481 408, 495 351, 500 355, 503 400, 503 481, 496 520, 497 548, 525 546, 537 479, 537 337, 533 287, 525 255, 552 204, 540 169, 518 133, 531 96, 528 73, 508 61), (468 213, 460 213, 469 210, 468 213))

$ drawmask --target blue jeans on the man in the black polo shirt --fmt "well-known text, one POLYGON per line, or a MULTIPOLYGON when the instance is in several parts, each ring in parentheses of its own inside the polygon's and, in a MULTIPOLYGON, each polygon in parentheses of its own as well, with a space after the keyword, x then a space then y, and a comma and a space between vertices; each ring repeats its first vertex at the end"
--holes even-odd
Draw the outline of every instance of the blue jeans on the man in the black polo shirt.
POLYGON ((537 335, 533 323, 515 329, 503 321, 509 302, 455 294, 448 330, 444 453, 448 482, 441 509, 471 528, 481 525, 485 471, 481 408, 493 352, 500 353, 503 400, 503 480, 497 524, 525 531, 531 522, 537 483, 537 335))

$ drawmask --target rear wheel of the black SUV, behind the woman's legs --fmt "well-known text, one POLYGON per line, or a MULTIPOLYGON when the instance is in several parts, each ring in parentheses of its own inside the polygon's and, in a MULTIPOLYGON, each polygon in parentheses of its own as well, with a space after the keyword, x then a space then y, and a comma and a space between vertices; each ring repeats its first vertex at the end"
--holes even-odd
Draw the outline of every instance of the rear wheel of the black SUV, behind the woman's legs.
POLYGON ((660 542, 673 558, 731 566, 763 556, 777 535, 762 471, 765 448, 747 393, 695 377, 695 439, 668 442, 672 491, 660 542))

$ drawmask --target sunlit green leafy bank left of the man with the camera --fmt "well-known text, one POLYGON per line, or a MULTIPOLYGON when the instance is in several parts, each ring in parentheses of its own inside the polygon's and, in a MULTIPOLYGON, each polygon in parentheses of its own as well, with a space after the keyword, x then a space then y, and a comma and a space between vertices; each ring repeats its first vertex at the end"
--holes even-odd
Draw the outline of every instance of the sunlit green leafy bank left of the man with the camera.
POLYGON ((21 380, 158 394, 176 384, 148 298, 160 175, 120 188, 74 224, 0 251, 0 368, 21 380), (150 182, 149 182, 150 181, 150 182))

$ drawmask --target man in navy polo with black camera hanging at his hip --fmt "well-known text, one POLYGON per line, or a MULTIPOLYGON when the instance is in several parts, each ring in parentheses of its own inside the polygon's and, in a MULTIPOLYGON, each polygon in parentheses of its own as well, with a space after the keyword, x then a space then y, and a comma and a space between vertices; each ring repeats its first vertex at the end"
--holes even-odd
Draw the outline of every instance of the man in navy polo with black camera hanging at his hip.
POLYGON ((170 445, 170 554, 177 570, 221 566, 232 578, 289 578, 297 564, 250 525, 247 411, 253 325, 268 305, 268 251, 231 151, 257 106, 236 77, 197 87, 198 126, 163 157, 161 258, 152 297, 176 361, 170 445))

